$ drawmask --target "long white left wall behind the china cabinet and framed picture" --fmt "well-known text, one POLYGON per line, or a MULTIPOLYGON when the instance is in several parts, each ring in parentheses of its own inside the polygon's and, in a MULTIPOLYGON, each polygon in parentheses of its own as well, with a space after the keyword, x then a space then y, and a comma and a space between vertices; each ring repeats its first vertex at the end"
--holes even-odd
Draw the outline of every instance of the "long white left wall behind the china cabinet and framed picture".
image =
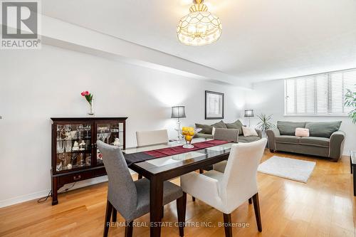
POLYGON ((169 128, 174 137, 173 105, 186 105, 182 125, 204 122, 204 90, 225 93, 226 122, 241 115, 245 96, 232 86, 51 46, 0 51, 0 206, 51 189, 50 117, 85 117, 83 90, 94 93, 96 116, 129 117, 127 147, 136 145, 137 130, 169 128))

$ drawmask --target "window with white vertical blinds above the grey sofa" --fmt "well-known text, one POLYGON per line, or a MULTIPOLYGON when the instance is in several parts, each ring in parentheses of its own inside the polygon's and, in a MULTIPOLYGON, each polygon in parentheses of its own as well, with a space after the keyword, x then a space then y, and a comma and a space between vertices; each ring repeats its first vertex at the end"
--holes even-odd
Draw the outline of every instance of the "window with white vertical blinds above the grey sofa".
POLYGON ((285 115, 347 115, 347 89, 355 90, 356 69, 284 80, 285 115))

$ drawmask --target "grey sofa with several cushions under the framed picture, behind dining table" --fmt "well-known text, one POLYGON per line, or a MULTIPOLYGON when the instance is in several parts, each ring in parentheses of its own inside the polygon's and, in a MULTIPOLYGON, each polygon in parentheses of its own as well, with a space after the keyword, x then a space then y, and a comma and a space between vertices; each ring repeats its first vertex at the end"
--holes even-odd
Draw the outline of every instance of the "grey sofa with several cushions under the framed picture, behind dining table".
POLYGON ((240 120, 236 120, 235 122, 225 123, 223 120, 220 122, 216 122, 213 125, 202 125, 199 123, 195 124, 195 127, 201 128, 201 131, 198 132, 194 137, 204 137, 204 138, 213 138, 212 131, 213 127, 215 128, 224 128, 224 129, 237 129, 239 130, 239 142, 255 142, 258 139, 262 138, 262 131, 256 130, 258 136, 248 136, 244 137, 244 133, 242 132, 242 127, 244 125, 240 120))

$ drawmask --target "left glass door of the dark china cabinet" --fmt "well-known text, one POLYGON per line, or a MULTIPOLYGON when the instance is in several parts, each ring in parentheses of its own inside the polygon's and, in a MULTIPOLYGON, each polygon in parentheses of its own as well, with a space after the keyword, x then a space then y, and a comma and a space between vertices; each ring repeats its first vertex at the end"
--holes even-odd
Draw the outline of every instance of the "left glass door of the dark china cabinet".
POLYGON ((56 130, 56 172, 91 166, 92 125, 61 124, 56 130))

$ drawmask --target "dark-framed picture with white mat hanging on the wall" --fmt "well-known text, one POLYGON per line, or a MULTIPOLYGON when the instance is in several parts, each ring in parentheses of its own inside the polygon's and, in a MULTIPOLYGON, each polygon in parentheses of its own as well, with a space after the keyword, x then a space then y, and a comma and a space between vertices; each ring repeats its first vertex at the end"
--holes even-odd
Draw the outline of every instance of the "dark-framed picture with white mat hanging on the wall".
POLYGON ((224 118, 224 93, 205 90, 205 119, 224 118))

